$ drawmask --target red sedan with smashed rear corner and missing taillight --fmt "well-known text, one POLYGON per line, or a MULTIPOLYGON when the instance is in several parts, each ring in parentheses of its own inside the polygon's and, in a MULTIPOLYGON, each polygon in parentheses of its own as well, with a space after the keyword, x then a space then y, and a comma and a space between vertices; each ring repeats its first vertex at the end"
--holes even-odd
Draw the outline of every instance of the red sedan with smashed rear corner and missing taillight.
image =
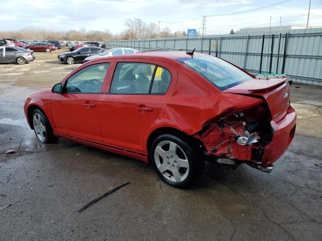
POLYGON ((213 56, 150 52, 89 61, 26 98, 40 142, 65 138, 151 163, 184 187, 204 161, 270 172, 296 113, 287 79, 255 79, 213 56))

